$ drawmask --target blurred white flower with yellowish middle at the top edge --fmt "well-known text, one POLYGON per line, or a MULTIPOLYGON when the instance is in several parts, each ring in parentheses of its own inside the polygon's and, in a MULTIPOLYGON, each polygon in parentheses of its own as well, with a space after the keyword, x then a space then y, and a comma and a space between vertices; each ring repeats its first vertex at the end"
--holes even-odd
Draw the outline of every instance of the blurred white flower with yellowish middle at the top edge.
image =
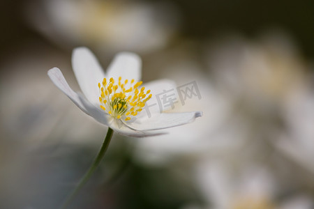
POLYGON ((31 24, 61 47, 98 52, 150 52, 167 44, 179 26, 170 3, 43 0, 29 9, 31 24))

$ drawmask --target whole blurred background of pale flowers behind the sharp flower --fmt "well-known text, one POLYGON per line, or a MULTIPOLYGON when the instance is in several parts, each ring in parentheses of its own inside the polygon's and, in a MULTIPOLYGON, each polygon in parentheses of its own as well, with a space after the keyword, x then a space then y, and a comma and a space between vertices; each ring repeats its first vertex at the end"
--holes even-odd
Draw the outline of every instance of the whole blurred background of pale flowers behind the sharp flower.
POLYGON ((1 1, 0 208, 59 208, 107 131, 47 77, 89 47, 195 82, 204 112, 159 137, 114 134, 71 208, 314 208, 313 1, 1 1))

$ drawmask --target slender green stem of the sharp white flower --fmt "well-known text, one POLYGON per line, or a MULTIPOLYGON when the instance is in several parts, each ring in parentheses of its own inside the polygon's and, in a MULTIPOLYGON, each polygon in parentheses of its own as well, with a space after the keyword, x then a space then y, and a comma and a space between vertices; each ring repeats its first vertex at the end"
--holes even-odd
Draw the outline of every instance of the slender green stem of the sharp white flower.
POLYGON ((101 160, 103 159, 103 156, 106 153, 106 150, 110 144, 110 140, 112 138, 113 130, 108 127, 108 131, 105 137, 105 140, 103 141, 103 146, 101 146, 100 151, 94 160, 93 164, 91 164, 91 167, 89 167, 88 171, 85 173, 85 175, 80 180, 80 183, 78 183, 77 187, 73 190, 73 192, 68 196, 66 201, 63 203, 63 206, 61 206, 61 209, 67 208, 70 203, 73 201, 75 196, 80 192, 80 189, 87 183, 89 178, 91 178, 91 175, 94 173, 94 171, 97 169, 98 165, 100 164, 101 160))

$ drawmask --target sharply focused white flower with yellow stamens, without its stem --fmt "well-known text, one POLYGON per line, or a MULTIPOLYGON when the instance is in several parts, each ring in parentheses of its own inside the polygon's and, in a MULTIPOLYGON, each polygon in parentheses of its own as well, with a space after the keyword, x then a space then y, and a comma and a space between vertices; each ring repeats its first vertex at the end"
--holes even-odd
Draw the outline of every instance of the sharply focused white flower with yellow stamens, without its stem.
POLYGON ((156 130, 184 125, 202 116, 201 111, 161 113, 158 105, 149 108, 151 114, 142 111, 148 100, 150 104, 157 103, 154 94, 175 86, 163 79, 138 88, 142 84, 141 60, 136 54, 117 54, 105 73, 94 54, 80 47, 73 51, 72 64, 85 97, 68 86, 59 68, 48 71, 52 82, 82 111, 120 134, 133 137, 161 134, 156 130))

